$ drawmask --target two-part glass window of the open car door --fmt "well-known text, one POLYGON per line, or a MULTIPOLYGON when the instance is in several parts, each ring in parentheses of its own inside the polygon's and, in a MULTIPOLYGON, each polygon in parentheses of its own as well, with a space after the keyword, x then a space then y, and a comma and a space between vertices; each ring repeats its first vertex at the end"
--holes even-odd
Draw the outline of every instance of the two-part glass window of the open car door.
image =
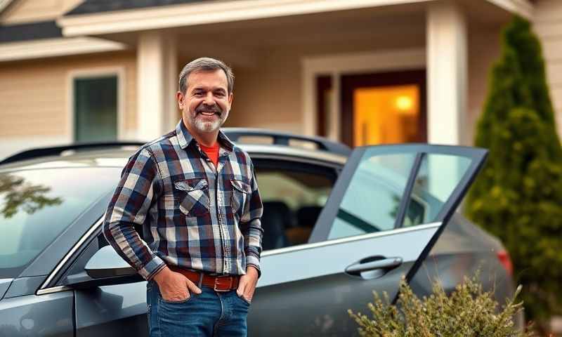
POLYGON ((471 160, 446 154, 424 155, 405 218, 397 223, 416 156, 415 152, 374 156, 367 150, 346 189, 328 239, 434 221, 471 160))

